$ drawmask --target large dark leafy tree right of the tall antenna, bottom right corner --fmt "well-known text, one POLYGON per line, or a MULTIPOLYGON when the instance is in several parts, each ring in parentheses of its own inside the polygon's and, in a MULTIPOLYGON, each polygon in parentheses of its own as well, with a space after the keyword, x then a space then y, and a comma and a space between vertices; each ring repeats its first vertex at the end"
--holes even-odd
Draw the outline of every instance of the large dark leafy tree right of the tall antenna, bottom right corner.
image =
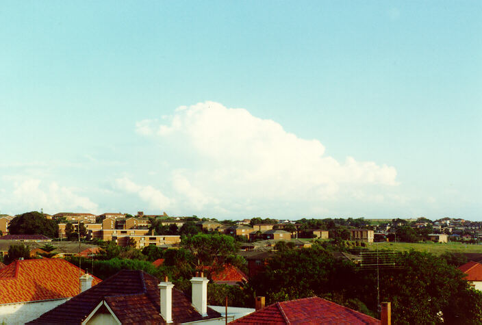
POLYGON ((380 278, 381 299, 392 302, 394 324, 435 324, 441 317, 448 324, 481 322, 481 295, 470 289, 457 268, 414 250, 403 254, 400 265, 400 269, 385 270, 380 278))

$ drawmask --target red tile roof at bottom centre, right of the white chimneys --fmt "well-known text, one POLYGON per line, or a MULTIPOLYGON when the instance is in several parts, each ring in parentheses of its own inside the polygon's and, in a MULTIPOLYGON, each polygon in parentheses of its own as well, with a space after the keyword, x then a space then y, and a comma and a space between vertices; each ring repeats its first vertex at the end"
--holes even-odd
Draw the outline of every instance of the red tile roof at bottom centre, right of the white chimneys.
POLYGON ((318 297, 276 302, 229 324, 380 324, 380 321, 318 297))

